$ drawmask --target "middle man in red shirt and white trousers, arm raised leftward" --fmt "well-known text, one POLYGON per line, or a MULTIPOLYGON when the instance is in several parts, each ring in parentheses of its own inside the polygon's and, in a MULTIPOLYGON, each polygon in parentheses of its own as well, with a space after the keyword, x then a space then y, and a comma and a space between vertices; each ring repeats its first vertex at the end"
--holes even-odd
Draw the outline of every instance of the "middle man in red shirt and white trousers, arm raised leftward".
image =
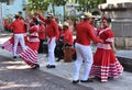
POLYGON ((58 25, 57 22, 54 19, 54 15, 50 13, 47 18, 43 18, 41 14, 35 13, 35 15, 38 15, 38 19, 45 22, 46 24, 46 33, 48 36, 48 65, 46 65, 47 68, 55 68, 55 46, 56 46, 56 41, 59 36, 58 32, 58 25))

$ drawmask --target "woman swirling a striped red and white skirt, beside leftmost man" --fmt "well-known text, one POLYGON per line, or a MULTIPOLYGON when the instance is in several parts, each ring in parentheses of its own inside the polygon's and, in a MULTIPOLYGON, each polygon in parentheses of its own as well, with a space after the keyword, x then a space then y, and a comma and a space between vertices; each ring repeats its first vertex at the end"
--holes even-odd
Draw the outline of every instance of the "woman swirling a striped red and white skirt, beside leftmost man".
POLYGON ((26 42, 26 49, 20 54, 20 57, 33 69, 38 68, 40 65, 37 63, 37 49, 40 46, 40 40, 38 40, 38 26, 37 20, 33 20, 31 22, 31 27, 29 30, 29 38, 26 42))

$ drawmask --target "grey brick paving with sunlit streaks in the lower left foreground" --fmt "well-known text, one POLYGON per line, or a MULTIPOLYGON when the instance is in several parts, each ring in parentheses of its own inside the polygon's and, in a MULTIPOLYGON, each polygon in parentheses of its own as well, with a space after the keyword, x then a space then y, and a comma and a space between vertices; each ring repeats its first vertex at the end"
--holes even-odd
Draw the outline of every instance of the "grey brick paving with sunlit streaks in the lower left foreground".
POLYGON ((94 90, 0 55, 0 90, 94 90))

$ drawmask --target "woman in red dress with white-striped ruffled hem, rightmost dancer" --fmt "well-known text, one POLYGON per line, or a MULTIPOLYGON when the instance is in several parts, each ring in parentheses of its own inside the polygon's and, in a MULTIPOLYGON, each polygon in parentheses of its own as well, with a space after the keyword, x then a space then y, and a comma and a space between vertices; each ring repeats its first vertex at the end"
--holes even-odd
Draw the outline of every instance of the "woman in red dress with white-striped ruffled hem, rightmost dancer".
POLYGON ((109 78, 118 78, 123 71, 123 67, 117 59, 114 52, 114 34, 109 27, 111 19, 103 18, 102 27, 97 30, 97 35, 103 41, 98 43, 97 50, 94 56, 91 76, 101 80, 108 81, 109 78))

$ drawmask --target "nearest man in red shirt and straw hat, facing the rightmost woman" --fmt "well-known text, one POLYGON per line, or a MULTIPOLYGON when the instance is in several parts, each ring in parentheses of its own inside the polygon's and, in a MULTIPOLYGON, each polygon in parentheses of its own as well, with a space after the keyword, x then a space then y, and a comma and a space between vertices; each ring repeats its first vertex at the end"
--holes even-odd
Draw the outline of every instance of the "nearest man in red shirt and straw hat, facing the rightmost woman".
POLYGON ((90 41, 94 42, 101 42, 100 38, 96 37, 94 33, 94 27, 89 24, 92 15, 90 13, 84 13, 84 21, 79 22, 76 27, 76 54, 77 59, 75 61, 75 70, 73 76, 73 83, 79 82, 79 70, 85 61, 85 69, 81 76, 81 82, 91 82, 92 80, 89 79, 89 72, 92 65, 92 50, 90 47, 90 41))

